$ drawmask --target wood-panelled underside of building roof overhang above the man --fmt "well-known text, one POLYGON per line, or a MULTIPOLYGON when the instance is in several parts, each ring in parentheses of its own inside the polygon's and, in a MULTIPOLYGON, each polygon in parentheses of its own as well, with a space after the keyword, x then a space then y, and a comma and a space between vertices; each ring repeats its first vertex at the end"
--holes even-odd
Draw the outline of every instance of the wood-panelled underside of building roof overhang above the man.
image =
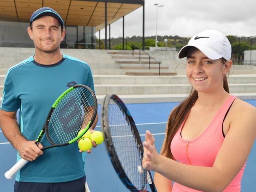
POLYGON ((144 5, 144 0, 0 0, 0 21, 29 22, 41 7, 57 11, 65 25, 93 26, 95 32, 144 5))

